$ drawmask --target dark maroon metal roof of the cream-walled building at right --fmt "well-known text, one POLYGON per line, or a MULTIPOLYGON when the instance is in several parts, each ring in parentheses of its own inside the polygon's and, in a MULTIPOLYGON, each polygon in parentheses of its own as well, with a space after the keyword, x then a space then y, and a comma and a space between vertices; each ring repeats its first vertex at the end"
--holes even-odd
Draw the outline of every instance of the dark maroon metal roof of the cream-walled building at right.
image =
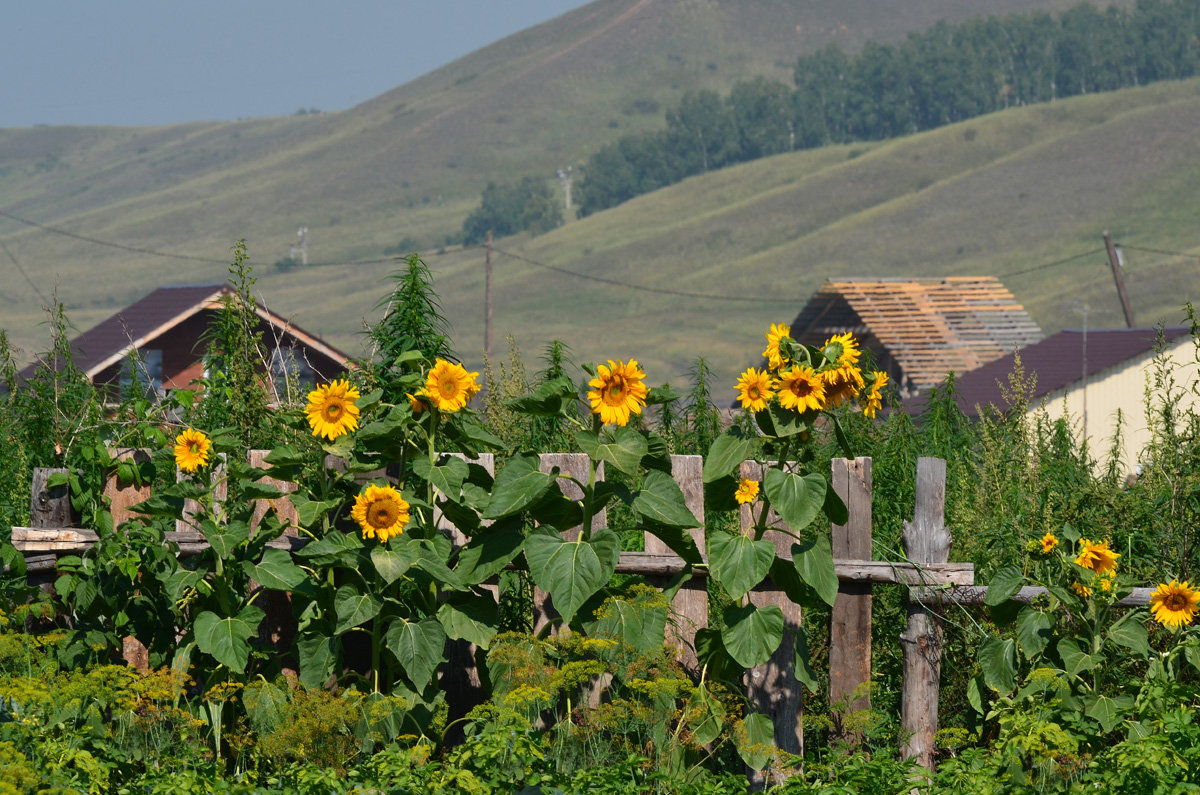
MULTIPOLYGON (((1174 342, 1187 336, 1190 329, 1186 325, 1163 329, 1166 342, 1174 342)), ((1087 330, 1087 376, 1109 370, 1135 357, 1154 349, 1158 329, 1088 329, 1087 330)), ((1026 375, 1037 376, 1032 400, 1082 381, 1084 378, 1084 331, 1066 329, 1048 336, 1036 345, 1021 348, 1021 369, 1026 375)), ((976 407, 995 406, 1006 408, 1001 394, 1001 384, 1008 383, 1013 372, 1014 355, 1001 357, 982 367, 965 372, 954 378, 955 401, 962 413, 978 416, 976 407)), ((920 413, 922 401, 908 405, 911 413, 920 413)))

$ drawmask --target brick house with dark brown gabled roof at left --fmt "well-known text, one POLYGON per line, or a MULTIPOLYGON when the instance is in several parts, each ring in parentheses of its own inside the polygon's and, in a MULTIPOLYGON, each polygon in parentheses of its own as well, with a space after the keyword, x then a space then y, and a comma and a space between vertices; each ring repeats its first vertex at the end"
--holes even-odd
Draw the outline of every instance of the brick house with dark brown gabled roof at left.
MULTIPOLYGON (((204 375, 204 336, 222 301, 236 300, 229 285, 160 287, 71 341, 72 358, 96 384, 114 389, 133 378, 154 389, 185 388, 204 375), (131 367, 137 351, 138 365, 131 367)), ((257 303, 256 303, 257 304, 257 303)), ((346 371, 349 357, 262 304, 257 331, 263 333, 264 375, 299 387, 331 381, 346 371)), ((32 375, 34 365, 22 371, 32 375)))

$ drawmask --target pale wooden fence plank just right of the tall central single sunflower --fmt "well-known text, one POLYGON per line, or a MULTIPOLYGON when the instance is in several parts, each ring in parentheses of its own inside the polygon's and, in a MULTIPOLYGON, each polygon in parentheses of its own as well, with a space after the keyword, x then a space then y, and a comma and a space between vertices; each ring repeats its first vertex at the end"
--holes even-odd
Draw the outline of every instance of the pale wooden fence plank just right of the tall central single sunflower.
MULTIPOLYGON (((704 458, 701 455, 672 455, 671 477, 683 491, 688 510, 696 518, 696 526, 688 534, 704 554, 704 458)), ((646 533, 646 552, 674 557, 670 548, 653 533, 646 533)), ((624 555, 622 555, 624 558, 624 555)), ((676 560, 679 560, 676 557, 676 560)), ((683 570, 683 561, 677 572, 683 570)), ((650 585, 664 588, 667 576, 648 575, 650 585)), ((690 671, 698 671, 696 659, 696 630, 708 626, 708 585, 704 578, 692 578, 679 588, 671 602, 671 621, 667 623, 667 642, 679 651, 679 662, 690 671)))

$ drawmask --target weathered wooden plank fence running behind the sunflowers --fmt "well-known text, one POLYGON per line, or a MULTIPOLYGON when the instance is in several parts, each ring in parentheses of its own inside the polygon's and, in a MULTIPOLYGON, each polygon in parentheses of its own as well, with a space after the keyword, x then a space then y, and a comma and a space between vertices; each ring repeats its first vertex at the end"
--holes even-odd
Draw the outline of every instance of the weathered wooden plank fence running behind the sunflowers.
MULTIPOLYGON (((144 450, 122 450, 121 458, 139 459, 144 450)), ((269 468, 264 462, 266 453, 253 450, 250 462, 269 468)), ((494 473, 494 459, 490 454, 473 459, 488 472, 494 473)), ((672 474, 686 500, 688 508, 696 518, 696 527, 690 531, 697 546, 704 550, 703 460, 698 455, 672 456, 672 474)), ((566 476, 586 482, 588 458, 582 454, 544 454, 541 470, 553 468, 566 476)), ((61 470, 58 470, 61 471, 61 470)), ((59 555, 78 554, 98 540, 95 532, 73 527, 70 501, 65 488, 47 488, 47 479, 54 470, 35 472, 31 494, 31 527, 14 527, 12 542, 24 552, 31 576, 53 578, 59 555), (41 574, 38 574, 41 573, 41 574)), ((746 461, 742 477, 761 479, 760 465, 746 461)), ((362 476, 383 477, 383 472, 362 476)), ((599 476, 602 477, 602 473, 599 476)), ((832 467, 833 488, 846 503, 848 519, 845 525, 833 527, 834 568, 839 579, 838 598, 833 605, 829 639, 829 703, 847 704, 850 711, 869 709, 870 698, 860 688, 871 679, 871 586, 875 582, 892 582, 911 586, 908 622, 901 635, 904 644, 904 704, 901 710, 901 735, 905 737, 902 754, 931 767, 934 735, 937 730, 937 691, 941 673, 941 628, 931 605, 937 602, 956 600, 978 603, 983 588, 973 588, 974 569, 970 563, 949 563, 950 536, 943 522, 946 492, 946 462, 941 459, 919 459, 917 464, 917 490, 913 520, 905 522, 904 543, 906 561, 875 561, 871 550, 871 460, 836 459, 832 467)), ((284 494, 295 489, 294 484, 264 479, 284 494)), ((558 480, 559 488, 571 497, 575 484, 558 480)), ((104 496, 110 500, 114 527, 131 519, 130 508, 150 496, 149 486, 137 486, 118 480, 114 473, 104 486, 104 496)), ((578 495, 575 495, 578 496, 578 495)), ((298 522, 295 509, 287 498, 258 501, 254 515, 263 516, 274 509, 281 519, 298 522)), ((464 542, 440 515, 438 525, 457 543, 464 542)), ((594 518, 594 527, 604 526, 606 516, 594 518)), ((751 526, 749 507, 742 509, 743 530, 751 526)), ((772 525, 781 520, 772 516, 772 525)), ((564 532, 572 537, 578 527, 564 532)), ((196 554, 206 544, 203 537, 186 524, 180 522, 168 540, 179 545, 181 556, 196 554)), ((788 555, 792 538, 768 531, 766 538, 776 544, 782 555, 788 555)), ((305 539, 294 531, 271 542, 272 546, 299 549, 305 539)), ((617 566, 618 573, 640 574, 652 584, 662 584, 666 578, 678 574, 686 564, 670 552, 654 536, 647 534, 643 552, 623 552, 617 566)), ((674 597, 672 608, 674 621, 670 640, 679 648, 680 660, 695 670, 694 639, 696 629, 706 626, 708 618, 708 591, 703 579, 704 569, 695 569, 694 576, 674 597)), ((493 591, 494 592, 494 591, 493 591)), ((774 604, 785 616, 785 638, 772 659, 748 671, 746 695, 755 709, 770 716, 775 725, 775 742, 779 748, 803 752, 803 698, 802 686, 794 676, 794 652, 792 630, 800 626, 800 608, 792 603, 769 581, 755 588, 750 598, 757 605, 774 604)), ((1028 597, 1027 597, 1028 598, 1028 597)), ((536 591, 534 594, 534 626, 540 629, 553 617, 550 596, 536 591)), ((478 683, 472 667, 474 656, 458 650, 451 653, 455 677, 478 683)), ((127 657, 136 654, 127 648, 127 657)), ((851 737, 852 739, 852 737, 851 737)))

